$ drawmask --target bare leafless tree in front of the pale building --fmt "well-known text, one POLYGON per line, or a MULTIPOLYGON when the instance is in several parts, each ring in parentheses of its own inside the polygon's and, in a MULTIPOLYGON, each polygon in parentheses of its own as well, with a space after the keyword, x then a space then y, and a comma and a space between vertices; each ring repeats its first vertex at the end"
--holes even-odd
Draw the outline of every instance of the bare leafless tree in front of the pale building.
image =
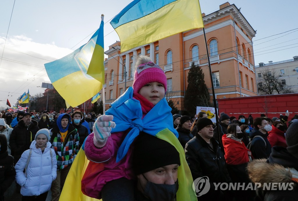
POLYGON ((294 93, 273 69, 264 69, 261 73, 262 77, 257 80, 258 91, 261 95, 294 93))

